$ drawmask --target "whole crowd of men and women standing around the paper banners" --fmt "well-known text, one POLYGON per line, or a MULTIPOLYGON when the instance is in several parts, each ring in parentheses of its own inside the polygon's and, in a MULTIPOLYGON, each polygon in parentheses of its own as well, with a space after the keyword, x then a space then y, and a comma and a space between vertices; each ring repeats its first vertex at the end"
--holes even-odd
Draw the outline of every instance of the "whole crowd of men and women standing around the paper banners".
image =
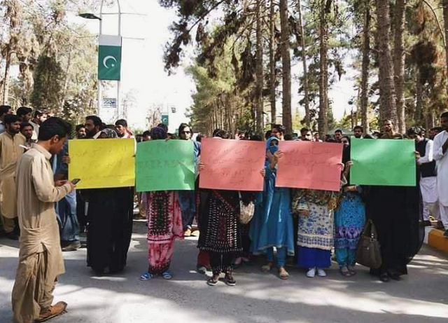
MULTIPOLYGON (((68 181, 71 126, 41 111, 31 112, 22 107, 13 114, 9 106, 0 106, 1 223, 7 238, 16 240, 20 235, 13 288, 15 323, 43 322, 64 312, 66 303, 52 305, 52 291, 57 276, 64 273, 62 251, 78 249, 80 233, 87 231, 87 266, 94 273, 112 275, 125 268, 134 200, 148 227, 148 266, 142 281, 171 279, 174 242, 190 235, 199 235, 196 269, 202 274, 211 271, 210 286, 219 283, 221 273, 225 284, 234 286, 234 269, 254 259, 262 261, 264 273, 276 268, 281 280, 289 278, 288 262, 306 268, 307 277, 325 277, 332 253, 340 274, 351 277, 356 275, 356 247, 366 219, 377 228, 381 245, 382 264, 370 273, 381 282, 400 280, 419 252, 430 216, 448 229, 448 112, 442 114, 440 128, 429 131, 429 138, 420 127, 399 134, 391 121, 384 121, 381 133, 364 134, 360 126, 353 129, 353 137, 363 140, 414 139, 419 183, 414 187, 350 184, 351 137, 337 130, 324 141, 344 147, 339 192, 277 188, 277 164, 284 156, 279 143, 293 136, 282 125, 272 125, 264 136, 265 167, 259 174, 264 178, 263 191, 200 188, 200 174, 207 168, 201 162, 203 136, 193 136, 193 128, 182 123, 177 135, 160 124, 136 139, 192 141, 195 190, 138 194, 133 187, 76 190, 68 181), (250 221, 242 221, 243 214, 250 221)), ((105 125, 98 116, 87 116, 83 125, 76 126, 73 140, 133 137, 123 119, 105 125)), ((213 137, 234 136, 216 129, 213 137)), ((262 135, 248 133, 234 138, 263 140, 262 135)), ((307 128, 295 140, 322 142, 307 128)), ((448 230, 444 236, 448 238, 448 230)))

